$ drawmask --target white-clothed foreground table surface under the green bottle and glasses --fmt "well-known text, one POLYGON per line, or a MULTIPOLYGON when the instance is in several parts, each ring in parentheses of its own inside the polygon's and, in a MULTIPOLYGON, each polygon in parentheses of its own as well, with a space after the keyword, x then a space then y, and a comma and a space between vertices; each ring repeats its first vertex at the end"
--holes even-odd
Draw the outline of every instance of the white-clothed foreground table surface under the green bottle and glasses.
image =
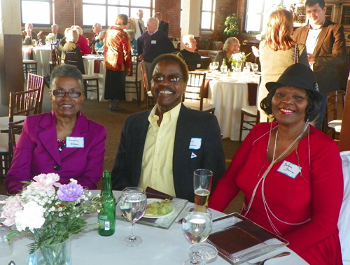
MULTIPOLYGON (((99 191, 92 191, 92 195, 99 191)), ((120 197, 120 191, 113 191, 116 199, 120 197)), ((192 203, 188 203, 188 206, 192 203)), ((221 217, 224 213, 211 210, 213 218, 221 217)), ((90 213, 84 217, 87 222, 97 223, 97 213, 90 213)), ((177 218, 179 220, 181 214, 177 218)), ((177 221, 176 220, 176 221, 177 221)), ((124 236, 131 234, 131 224, 127 221, 116 220, 116 232, 113 236, 99 236, 97 226, 88 227, 82 233, 71 238, 71 265, 102 265, 102 264, 127 264, 127 265, 181 265, 184 259, 190 257, 188 248, 190 243, 183 235, 182 225, 174 222, 169 229, 151 227, 144 224, 135 224, 134 234, 141 236, 144 243, 138 247, 128 247, 121 242, 124 236)), ((16 265, 26 265, 28 258, 27 244, 31 240, 22 233, 15 239, 13 254, 0 259, 0 265, 8 265, 12 260, 16 265)), ((276 259, 271 265, 304 265, 307 262, 287 247, 274 250, 258 258, 272 257, 283 251, 289 251, 289 257, 276 259)), ((211 259, 207 264, 228 265, 221 257, 211 259)), ((246 263, 244 263, 246 265, 246 263)))

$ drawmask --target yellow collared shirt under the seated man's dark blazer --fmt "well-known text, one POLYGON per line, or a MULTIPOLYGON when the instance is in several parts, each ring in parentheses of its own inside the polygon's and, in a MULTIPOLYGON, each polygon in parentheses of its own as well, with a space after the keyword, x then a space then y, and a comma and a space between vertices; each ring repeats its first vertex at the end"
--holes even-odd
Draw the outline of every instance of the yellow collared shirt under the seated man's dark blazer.
POLYGON ((176 196, 173 179, 173 154, 176 134, 176 124, 179 118, 181 103, 163 114, 160 126, 155 115, 157 106, 153 108, 148 120, 144 155, 141 164, 139 187, 152 187, 160 192, 176 196))

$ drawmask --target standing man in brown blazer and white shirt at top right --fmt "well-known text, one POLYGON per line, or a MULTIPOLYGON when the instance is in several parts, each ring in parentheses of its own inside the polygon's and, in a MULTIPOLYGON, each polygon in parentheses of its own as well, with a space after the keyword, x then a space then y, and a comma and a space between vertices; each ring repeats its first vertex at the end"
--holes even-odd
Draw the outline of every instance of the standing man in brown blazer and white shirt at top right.
POLYGON ((321 113, 315 124, 316 128, 321 129, 327 94, 339 90, 335 66, 343 64, 346 60, 344 27, 326 20, 324 0, 307 0, 305 6, 309 24, 296 29, 293 38, 297 43, 307 46, 307 58, 323 94, 321 113))

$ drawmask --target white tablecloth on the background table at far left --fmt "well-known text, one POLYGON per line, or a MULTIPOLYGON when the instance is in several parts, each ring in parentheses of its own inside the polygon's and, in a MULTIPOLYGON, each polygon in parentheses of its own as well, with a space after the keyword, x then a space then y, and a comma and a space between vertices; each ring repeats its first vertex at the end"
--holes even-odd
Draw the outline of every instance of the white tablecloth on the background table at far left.
POLYGON ((39 76, 46 76, 49 72, 51 46, 22 46, 23 59, 29 58, 29 49, 32 49, 33 59, 36 61, 36 69, 39 76))

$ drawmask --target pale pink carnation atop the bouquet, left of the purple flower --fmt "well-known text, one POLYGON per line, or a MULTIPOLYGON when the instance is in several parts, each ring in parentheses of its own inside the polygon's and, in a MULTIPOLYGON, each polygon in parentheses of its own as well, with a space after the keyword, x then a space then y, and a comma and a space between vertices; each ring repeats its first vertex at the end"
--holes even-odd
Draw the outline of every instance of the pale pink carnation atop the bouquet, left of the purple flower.
POLYGON ((36 182, 31 182, 31 188, 36 192, 46 192, 49 196, 55 194, 55 187, 61 186, 59 175, 56 173, 40 174, 33 178, 36 182))

